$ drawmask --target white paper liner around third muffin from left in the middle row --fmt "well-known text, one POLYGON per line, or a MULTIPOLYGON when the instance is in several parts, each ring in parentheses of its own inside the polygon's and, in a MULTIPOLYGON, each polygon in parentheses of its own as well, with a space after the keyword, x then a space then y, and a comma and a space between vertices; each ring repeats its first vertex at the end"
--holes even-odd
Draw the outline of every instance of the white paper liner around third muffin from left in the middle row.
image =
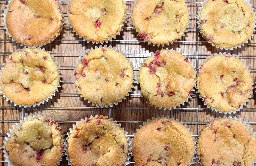
MULTIPOLYGON (((161 49, 161 50, 164 50, 163 48, 161 49)), ((168 51, 176 51, 176 52, 179 52, 179 53, 181 53, 180 51, 177 51, 177 50, 173 50, 173 49, 168 49, 168 48, 166 48, 166 50, 168 50, 168 51)), ((152 54, 154 54, 154 52, 150 52, 149 53, 150 55, 147 55, 147 57, 146 57, 146 59, 148 59, 149 57, 151 57, 151 55, 152 54)), ((182 53, 181 53, 182 54, 182 53)), ((187 58, 185 55, 183 55, 185 58, 187 58)), ((145 60, 146 60, 145 59, 145 60)), ((191 65, 192 65, 192 67, 193 67, 193 69, 194 69, 194 74, 195 74, 195 79, 196 79, 196 71, 195 71, 195 67, 193 66, 193 64, 192 64, 192 62, 190 61, 190 59, 189 58, 187 58, 188 60, 189 60, 189 63, 191 63, 191 65)), ((142 63, 140 63, 140 67, 141 66, 143 66, 143 64, 144 64, 144 61, 142 62, 142 63)), ((139 70, 140 70, 140 67, 139 67, 139 70)), ((135 76, 135 79, 136 79, 136 83, 137 84, 140 84, 139 82, 138 82, 138 77, 137 76, 135 76)), ((140 86, 140 85, 139 85, 140 86)), ((195 91, 195 88, 196 87, 196 80, 195 80, 195 84, 194 84, 194 86, 192 87, 192 89, 191 89, 191 92, 193 92, 193 91, 195 91)), ((141 87, 140 87, 141 88, 141 87)), ((144 97, 144 95, 141 93, 141 90, 139 90, 138 91, 139 92, 139 94, 140 94, 140 96, 141 97, 144 97)), ((164 110, 166 110, 166 109, 169 109, 169 110, 171 110, 172 108, 173 109, 176 109, 176 107, 179 107, 180 108, 180 106, 181 105, 185 105, 185 103, 188 103, 188 99, 191 99, 192 98, 192 96, 191 96, 192 94, 190 94, 189 93, 189 95, 188 95, 188 97, 186 98, 186 100, 184 100, 182 103, 180 103, 179 105, 176 105, 176 106, 173 106, 173 107, 155 107, 155 108, 159 108, 159 109, 163 109, 164 108, 164 110)), ((148 101, 148 99, 146 100, 146 103, 149 103, 149 101, 148 101)), ((150 106, 153 106, 153 105, 151 105, 150 104, 150 106)))

